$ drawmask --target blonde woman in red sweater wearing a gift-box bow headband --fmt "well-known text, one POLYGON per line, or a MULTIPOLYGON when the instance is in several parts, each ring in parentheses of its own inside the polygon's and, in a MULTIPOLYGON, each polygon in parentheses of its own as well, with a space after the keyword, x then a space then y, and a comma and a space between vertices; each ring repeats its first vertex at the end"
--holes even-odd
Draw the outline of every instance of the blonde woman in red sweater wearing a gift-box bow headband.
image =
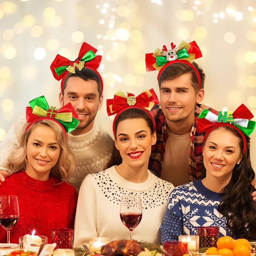
MULTIPOLYGON (((18 196, 20 218, 12 229, 11 243, 33 229, 51 239, 52 228, 74 228, 77 193, 65 181, 75 166, 67 132, 78 124, 76 112, 70 103, 58 111, 49 108, 44 96, 29 104, 29 124, 21 134, 20 148, 8 159, 12 175, 0 188, 0 195, 18 196)), ((5 241, 6 231, 1 228, 0 242, 5 241)))

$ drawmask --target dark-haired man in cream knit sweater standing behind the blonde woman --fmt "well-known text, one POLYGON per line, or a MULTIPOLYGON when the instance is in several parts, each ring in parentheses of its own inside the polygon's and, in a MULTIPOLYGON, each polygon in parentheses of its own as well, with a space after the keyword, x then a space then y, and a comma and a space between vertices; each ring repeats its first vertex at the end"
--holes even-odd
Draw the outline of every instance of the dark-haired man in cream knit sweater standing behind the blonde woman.
MULTIPOLYGON (((77 192, 87 174, 104 169, 112 157, 114 148, 112 138, 95 122, 95 116, 103 102, 103 83, 100 74, 93 68, 87 68, 88 66, 82 70, 76 68, 74 73, 64 76, 59 95, 60 106, 71 102, 78 114, 77 128, 68 133, 68 144, 76 156, 76 167, 69 183, 76 188, 77 192)), ((19 117, 1 142, 0 170, 8 171, 7 159, 11 151, 17 147, 20 132, 26 125, 26 117, 19 117)), ((4 171, 1 173, 4 176, 7 174, 4 171)), ((4 176, 0 177, 1 181, 4 176)))

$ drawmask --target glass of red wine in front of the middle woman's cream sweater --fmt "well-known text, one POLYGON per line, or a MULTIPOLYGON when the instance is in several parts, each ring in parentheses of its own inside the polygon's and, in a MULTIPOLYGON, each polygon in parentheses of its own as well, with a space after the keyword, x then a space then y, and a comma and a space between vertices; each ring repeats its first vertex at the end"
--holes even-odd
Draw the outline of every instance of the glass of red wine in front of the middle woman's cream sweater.
POLYGON ((122 196, 120 218, 124 225, 130 230, 130 239, 132 240, 132 230, 139 225, 142 218, 139 195, 122 196))

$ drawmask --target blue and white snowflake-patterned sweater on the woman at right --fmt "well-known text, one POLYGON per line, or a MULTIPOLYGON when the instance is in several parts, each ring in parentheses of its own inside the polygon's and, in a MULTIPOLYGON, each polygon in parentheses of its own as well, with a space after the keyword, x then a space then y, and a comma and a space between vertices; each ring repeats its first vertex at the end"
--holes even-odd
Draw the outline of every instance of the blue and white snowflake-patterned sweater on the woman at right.
POLYGON ((202 226, 218 226, 220 236, 229 236, 226 217, 218 211, 223 195, 205 188, 202 180, 174 188, 161 225, 162 244, 178 240, 179 235, 197 235, 197 227, 202 226))

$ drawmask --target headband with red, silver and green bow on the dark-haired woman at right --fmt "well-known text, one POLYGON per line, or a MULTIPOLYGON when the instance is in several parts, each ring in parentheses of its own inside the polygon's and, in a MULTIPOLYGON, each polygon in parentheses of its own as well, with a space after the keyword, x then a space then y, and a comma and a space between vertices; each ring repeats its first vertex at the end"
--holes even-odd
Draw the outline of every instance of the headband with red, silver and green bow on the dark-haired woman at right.
POLYGON ((244 142, 243 155, 246 150, 245 136, 250 136, 255 129, 256 122, 250 120, 253 118, 251 111, 242 104, 234 113, 231 111, 219 111, 218 116, 211 111, 204 109, 197 118, 197 124, 201 131, 206 132, 204 135, 204 142, 209 133, 219 126, 230 126, 236 129, 242 136, 244 142))

